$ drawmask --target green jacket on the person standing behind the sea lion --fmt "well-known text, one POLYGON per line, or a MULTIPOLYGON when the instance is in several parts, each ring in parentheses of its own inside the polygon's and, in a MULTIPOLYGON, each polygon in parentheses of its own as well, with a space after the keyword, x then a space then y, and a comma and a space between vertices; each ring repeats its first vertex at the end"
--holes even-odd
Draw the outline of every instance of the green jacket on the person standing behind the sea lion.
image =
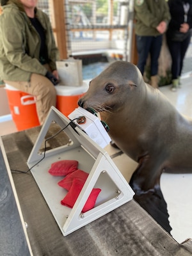
POLYGON ((134 0, 135 33, 139 36, 161 35, 156 27, 161 21, 170 21, 166 0, 134 0))

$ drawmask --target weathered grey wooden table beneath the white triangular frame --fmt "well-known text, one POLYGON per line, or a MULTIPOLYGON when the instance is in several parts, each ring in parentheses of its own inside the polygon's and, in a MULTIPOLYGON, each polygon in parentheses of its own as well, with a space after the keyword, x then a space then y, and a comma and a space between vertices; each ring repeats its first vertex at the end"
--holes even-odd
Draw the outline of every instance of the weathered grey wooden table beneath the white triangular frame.
MULTIPOLYGON (((39 131, 40 127, 35 127, 2 137, 11 170, 28 170, 26 161, 39 131)), ((50 147, 62 145, 63 140, 58 136, 49 142, 50 147)), ((1 177, 4 169, 5 167, 1 166, 1 177)), ((29 242, 35 256, 185 256, 192 253, 191 240, 178 244, 134 200, 64 237, 31 173, 12 172, 12 177, 24 221, 28 223, 29 242)), ((7 186, 8 180, 4 179, 2 183, 1 193, 3 186, 7 186)), ((10 202, 7 201, 6 204, 10 202)), ((3 205, 0 200, 0 210, 1 207, 3 205)), ((10 211, 8 209, 6 211, 1 211, 0 218, 4 220, 10 218, 10 211)), ((17 211, 14 210, 14 212, 16 214, 17 211)), ((0 223, 3 225, 2 221, 0 223)), ((0 227, 0 232, 1 230, 0 227)), ((23 250, 22 244, 17 243, 17 231, 18 228, 14 236, 12 232, 6 233, 6 239, 4 239, 4 243, 10 243, 12 239, 10 244, 13 252, 14 248, 18 250, 18 246, 23 250)), ((4 235, 2 232, 0 234, 1 239, 4 235)), ((25 242, 23 236, 22 239, 25 242)), ((6 252, 0 254, 6 255, 6 252)), ((13 255, 22 256, 14 253, 13 255)))

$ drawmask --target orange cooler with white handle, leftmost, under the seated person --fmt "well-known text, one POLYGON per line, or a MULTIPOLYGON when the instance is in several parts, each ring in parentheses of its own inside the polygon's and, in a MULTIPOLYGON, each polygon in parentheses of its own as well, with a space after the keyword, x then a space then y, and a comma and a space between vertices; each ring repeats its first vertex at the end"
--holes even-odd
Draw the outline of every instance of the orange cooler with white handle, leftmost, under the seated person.
POLYGON ((40 125, 36 114, 35 97, 6 84, 8 104, 18 131, 40 125))

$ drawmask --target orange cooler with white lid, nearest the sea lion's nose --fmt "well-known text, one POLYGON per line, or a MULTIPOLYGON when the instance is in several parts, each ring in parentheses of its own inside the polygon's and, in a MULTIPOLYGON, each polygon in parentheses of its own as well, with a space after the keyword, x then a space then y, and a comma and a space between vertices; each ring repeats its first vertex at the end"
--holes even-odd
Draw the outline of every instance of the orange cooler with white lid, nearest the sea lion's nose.
POLYGON ((88 90, 88 84, 83 83, 82 86, 66 86, 57 85, 55 86, 57 93, 56 108, 68 116, 74 109, 78 108, 78 100, 88 90))

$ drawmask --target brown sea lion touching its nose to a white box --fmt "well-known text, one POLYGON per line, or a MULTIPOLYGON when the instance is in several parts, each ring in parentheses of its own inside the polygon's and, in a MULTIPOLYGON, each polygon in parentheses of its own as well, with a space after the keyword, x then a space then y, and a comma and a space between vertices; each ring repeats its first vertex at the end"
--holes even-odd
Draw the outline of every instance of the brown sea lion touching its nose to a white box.
POLYGON ((168 232, 172 230, 159 186, 162 172, 191 173, 192 120, 180 115, 135 65, 115 61, 90 81, 79 106, 100 112, 116 145, 138 162, 130 185, 134 199, 168 232))

